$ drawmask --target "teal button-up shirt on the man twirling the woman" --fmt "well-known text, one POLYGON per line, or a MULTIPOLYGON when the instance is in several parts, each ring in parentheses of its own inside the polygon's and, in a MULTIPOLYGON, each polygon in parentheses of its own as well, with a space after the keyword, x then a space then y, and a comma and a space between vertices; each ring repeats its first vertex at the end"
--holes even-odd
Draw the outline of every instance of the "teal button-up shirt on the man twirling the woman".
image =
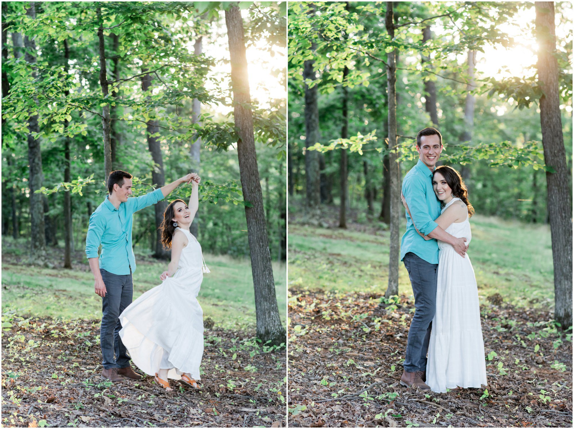
POLYGON ((117 275, 129 275, 135 271, 135 256, 131 247, 131 227, 133 214, 138 210, 163 200, 161 189, 156 189, 141 197, 127 198, 115 208, 108 200, 98 206, 90 216, 90 226, 86 236, 86 256, 98 258, 98 247, 102 244, 99 257, 100 268, 117 275))

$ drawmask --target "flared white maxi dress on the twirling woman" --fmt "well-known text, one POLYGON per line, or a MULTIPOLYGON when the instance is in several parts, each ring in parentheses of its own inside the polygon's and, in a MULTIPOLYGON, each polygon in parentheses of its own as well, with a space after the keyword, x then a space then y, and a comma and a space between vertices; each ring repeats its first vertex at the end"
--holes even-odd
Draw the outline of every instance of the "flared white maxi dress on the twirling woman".
POLYGON ((191 232, 182 231, 188 244, 181 251, 177 271, 129 305, 119 320, 119 336, 131 360, 141 371, 155 375, 170 369, 168 379, 190 373, 200 379, 203 356, 203 310, 197 295, 203 273, 210 272, 201 245, 191 232))

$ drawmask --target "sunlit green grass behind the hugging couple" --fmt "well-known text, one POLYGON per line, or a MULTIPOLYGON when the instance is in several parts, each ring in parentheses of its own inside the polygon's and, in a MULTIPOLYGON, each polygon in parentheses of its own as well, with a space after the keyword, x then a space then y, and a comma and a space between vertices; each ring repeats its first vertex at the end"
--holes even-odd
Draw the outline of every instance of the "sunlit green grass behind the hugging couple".
MULTIPOLYGON (((468 256, 481 300, 499 293, 505 301, 517 305, 554 305, 548 225, 475 215, 471 228, 468 256)), ((388 265, 389 231, 367 233, 289 225, 289 286, 382 293, 387 287, 388 265)), ((402 262, 399 293, 412 295, 402 262)))

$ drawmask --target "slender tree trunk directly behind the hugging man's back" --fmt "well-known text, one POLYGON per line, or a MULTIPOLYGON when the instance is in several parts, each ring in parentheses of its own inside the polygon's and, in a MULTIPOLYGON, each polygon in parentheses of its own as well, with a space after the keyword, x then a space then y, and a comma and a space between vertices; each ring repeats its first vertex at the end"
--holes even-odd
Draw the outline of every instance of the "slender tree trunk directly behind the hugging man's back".
MULTIPOLYGON (((393 23, 393 2, 387 2, 385 14, 385 26, 391 40, 394 38, 393 23)), ((396 64, 395 53, 391 51, 387 54, 387 93, 389 96, 389 147, 394 149, 397 145, 397 106, 395 98, 396 85, 396 64)), ((390 174, 390 247, 389 247, 389 285, 385 297, 398 295, 398 259, 400 255, 399 240, 399 213, 400 213, 400 169, 397 162, 398 154, 389 154, 389 174, 390 174)))

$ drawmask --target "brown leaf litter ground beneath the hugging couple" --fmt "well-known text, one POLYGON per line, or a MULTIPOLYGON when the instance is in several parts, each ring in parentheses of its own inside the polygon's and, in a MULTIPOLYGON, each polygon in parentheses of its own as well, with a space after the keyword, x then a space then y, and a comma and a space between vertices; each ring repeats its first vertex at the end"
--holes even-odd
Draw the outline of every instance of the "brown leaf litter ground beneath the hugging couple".
POLYGON ((549 311, 489 300, 488 386, 434 393, 398 383, 408 298, 290 288, 289 426, 572 427, 572 331, 549 311))

